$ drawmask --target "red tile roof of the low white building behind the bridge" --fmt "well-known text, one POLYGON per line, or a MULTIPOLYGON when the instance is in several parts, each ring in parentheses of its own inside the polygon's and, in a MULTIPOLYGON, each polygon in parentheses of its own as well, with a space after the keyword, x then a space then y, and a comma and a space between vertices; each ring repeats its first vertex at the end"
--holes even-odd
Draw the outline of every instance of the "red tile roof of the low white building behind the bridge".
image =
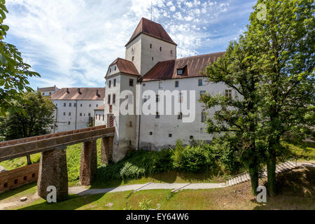
POLYGON ((51 95, 50 99, 70 99, 70 100, 103 100, 105 98, 105 87, 80 87, 62 88, 51 95), (69 93, 66 90, 69 90, 69 93), (80 89, 80 93, 78 91, 80 89), (98 90, 98 95, 97 95, 98 90))

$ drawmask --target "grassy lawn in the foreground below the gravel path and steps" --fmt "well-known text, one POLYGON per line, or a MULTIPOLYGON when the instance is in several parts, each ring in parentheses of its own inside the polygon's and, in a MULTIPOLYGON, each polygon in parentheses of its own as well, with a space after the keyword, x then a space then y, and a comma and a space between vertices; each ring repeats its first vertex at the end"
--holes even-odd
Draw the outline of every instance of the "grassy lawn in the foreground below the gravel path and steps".
MULTIPOLYGON (((279 195, 267 197, 267 203, 259 204, 251 194, 250 182, 229 188, 211 190, 182 190, 170 195, 171 190, 141 190, 137 193, 106 193, 78 197, 70 195, 69 200, 57 204, 49 204, 44 200, 36 200, 31 204, 15 209, 140 209, 139 202, 146 198, 151 200, 152 209, 315 209, 314 189, 315 169, 297 169, 279 176, 279 195), (130 195, 130 197, 127 197, 130 195), (106 204, 113 203, 112 207, 106 204)), ((265 183, 261 180, 260 184, 265 183)))

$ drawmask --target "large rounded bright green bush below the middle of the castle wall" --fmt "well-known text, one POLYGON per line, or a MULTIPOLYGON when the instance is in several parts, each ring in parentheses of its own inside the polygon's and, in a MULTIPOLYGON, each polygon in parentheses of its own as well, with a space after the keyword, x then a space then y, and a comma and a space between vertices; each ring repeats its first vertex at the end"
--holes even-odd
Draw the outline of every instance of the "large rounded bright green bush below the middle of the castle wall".
POLYGON ((208 144, 195 144, 194 146, 182 146, 177 141, 173 156, 174 167, 183 172, 205 172, 214 165, 214 158, 208 144))

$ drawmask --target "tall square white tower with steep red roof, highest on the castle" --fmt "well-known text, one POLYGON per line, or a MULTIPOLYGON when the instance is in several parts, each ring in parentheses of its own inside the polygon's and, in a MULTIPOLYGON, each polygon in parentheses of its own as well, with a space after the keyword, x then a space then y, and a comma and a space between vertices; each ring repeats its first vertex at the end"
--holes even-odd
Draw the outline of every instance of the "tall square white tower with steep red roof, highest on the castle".
POLYGON ((133 62, 143 76, 156 63, 176 59, 176 46, 162 25, 141 18, 130 41, 125 45, 125 59, 133 62))

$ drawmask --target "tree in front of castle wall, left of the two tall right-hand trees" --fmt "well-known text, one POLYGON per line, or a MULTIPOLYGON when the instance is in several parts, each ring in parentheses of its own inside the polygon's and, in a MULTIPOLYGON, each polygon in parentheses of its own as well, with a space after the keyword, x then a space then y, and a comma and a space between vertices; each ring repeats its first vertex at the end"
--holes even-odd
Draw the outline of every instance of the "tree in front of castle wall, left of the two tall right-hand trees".
POLYGON ((258 123, 257 83, 259 74, 255 67, 253 48, 246 37, 240 36, 239 42, 232 41, 223 57, 207 67, 209 82, 224 83, 228 92, 225 95, 204 94, 202 102, 206 109, 216 109, 214 117, 207 120, 207 132, 232 132, 239 144, 241 161, 251 175, 253 194, 258 188, 258 172, 261 158, 256 146, 256 125, 258 123), (232 96, 234 90, 235 96, 232 96))

